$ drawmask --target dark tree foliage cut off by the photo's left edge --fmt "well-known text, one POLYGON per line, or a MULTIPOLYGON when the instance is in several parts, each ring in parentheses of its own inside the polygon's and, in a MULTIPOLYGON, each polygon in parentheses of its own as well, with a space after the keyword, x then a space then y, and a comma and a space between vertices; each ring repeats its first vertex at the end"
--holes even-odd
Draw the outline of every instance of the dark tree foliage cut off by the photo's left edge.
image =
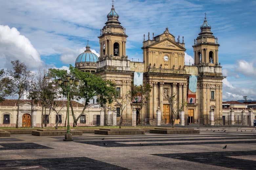
POLYGON ((0 101, 5 100, 5 97, 7 97, 11 93, 11 80, 10 78, 5 74, 4 69, 0 70, 0 101))

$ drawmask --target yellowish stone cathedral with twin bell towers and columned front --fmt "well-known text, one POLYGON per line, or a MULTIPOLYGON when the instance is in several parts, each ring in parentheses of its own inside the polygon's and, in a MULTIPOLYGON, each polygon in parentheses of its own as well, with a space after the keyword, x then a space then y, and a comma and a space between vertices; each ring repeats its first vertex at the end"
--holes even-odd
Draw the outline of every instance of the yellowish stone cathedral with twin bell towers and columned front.
MULTIPOLYGON (((186 102, 185 123, 208 124, 209 113, 214 115, 214 124, 223 124, 222 115, 222 67, 218 63, 218 39, 213 36, 206 18, 199 36, 194 39, 194 63, 185 65, 185 43, 180 36, 175 38, 168 28, 158 36, 148 35, 142 42, 143 62, 132 62, 126 55, 126 30, 118 20, 112 6, 107 22, 100 30, 100 56, 86 62, 76 60, 75 67, 81 71, 95 72, 103 80, 116 83, 120 98, 125 98, 134 84, 134 73, 143 74, 143 83, 152 86, 149 99, 142 110, 143 124, 156 124, 156 112, 161 111, 161 124, 170 123, 169 103, 165 96, 176 94, 177 105, 186 102), (93 61, 93 62, 92 62, 93 61), (84 67, 83 67, 84 66, 84 67), (85 66, 94 66, 86 70, 85 66)), ((85 53, 89 52, 89 45, 85 53)), ((91 54, 92 55, 92 54, 91 54)), ((81 56, 81 54, 79 55, 81 56)), ((78 56, 78 58, 79 58, 78 56)), ((89 55, 90 57, 90 55, 89 55)), ((80 57, 81 58, 81 57, 80 57)), ((86 58, 86 57, 85 57, 86 58)), ((82 60, 80 60, 82 61, 82 60)), ((88 68, 87 67, 87 68, 88 68)), ((115 106, 115 103, 112 104, 115 106)), ((129 103, 123 112, 124 123, 131 120, 132 108, 129 103)), ((115 108, 118 112, 118 107, 115 108)), ((107 111, 105 111, 107 113, 107 111)), ((179 119, 179 117, 178 117, 179 119)), ((179 120, 177 119, 177 123, 179 120)))

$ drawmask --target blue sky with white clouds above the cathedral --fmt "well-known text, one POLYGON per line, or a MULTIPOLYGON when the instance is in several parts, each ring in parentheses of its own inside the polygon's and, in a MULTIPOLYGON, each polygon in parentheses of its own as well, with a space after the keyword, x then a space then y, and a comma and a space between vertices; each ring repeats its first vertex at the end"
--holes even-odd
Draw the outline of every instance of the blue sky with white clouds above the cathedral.
MULTIPOLYGON (((116 0, 119 21, 126 28, 127 55, 142 61, 143 34, 161 34, 165 27, 184 36, 186 62, 207 13, 220 43, 223 99, 256 100, 256 1, 252 0, 116 0)), ((85 50, 87 39, 99 53, 97 36, 107 21, 111 0, 2 0, 0 6, 0 68, 19 59, 31 70, 48 65, 67 68, 85 50)), ((192 57, 191 57, 192 56, 192 57)))

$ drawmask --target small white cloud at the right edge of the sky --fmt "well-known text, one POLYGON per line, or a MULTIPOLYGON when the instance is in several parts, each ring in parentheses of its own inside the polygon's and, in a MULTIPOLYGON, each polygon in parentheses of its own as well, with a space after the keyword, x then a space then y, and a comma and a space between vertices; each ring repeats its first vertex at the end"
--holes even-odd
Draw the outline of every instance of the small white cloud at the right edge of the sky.
POLYGON ((238 66, 236 67, 236 71, 241 72, 246 76, 256 76, 256 62, 251 61, 247 62, 245 60, 239 60, 237 62, 238 66))

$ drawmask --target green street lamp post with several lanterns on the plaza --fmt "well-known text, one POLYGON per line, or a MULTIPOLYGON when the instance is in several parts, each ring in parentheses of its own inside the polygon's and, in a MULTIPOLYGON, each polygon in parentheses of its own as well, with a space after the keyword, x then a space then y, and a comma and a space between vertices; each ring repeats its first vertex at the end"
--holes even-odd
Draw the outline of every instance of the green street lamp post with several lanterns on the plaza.
POLYGON ((67 133, 65 134, 65 139, 63 139, 64 141, 73 141, 72 134, 70 133, 70 125, 69 125, 69 92, 70 92, 70 87, 74 84, 74 81, 75 81, 75 86, 78 86, 79 80, 75 80, 74 78, 71 78, 70 75, 66 75, 66 80, 58 79, 58 84, 64 85, 66 88, 67 100, 68 100, 68 107, 67 107, 68 126, 67 126, 67 133))

